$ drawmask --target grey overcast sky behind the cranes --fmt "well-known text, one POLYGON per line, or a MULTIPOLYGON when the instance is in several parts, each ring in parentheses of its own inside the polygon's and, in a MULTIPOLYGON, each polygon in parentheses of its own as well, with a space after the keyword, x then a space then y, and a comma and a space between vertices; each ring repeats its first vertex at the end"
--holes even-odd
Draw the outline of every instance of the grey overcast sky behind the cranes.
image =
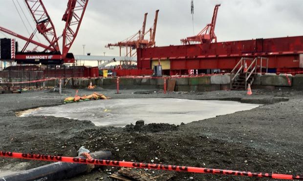
MULTIPOLYGON (((0 26, 29 37, 13 0, 0 1, 0 26)), ((17 0, 14 1, 18 6, 17 0)), ((18 1, 34 26, 23 0, 18 1)), ((61 19, 67 1, 43 0, 58 36, 65 25, 61 19)), ((157 9, 160 12, 156 45, 180 45, 180 39, 194 35, 190 1, 89 0, 78 36, 70 52, 83 54, 82 45, 86 45, 85 52, 92 55, 103 55, 103 52, 106 52, 106 55, 118 55, 118 47, 109 50, 104 46, 122 41, 141 29, 146 12, 149 13, 147 27, 151 27, 157 9)), ((215 30, 218 42, 303 35, 302 0, 194 0, 195 34, 207 23, 211 23, 214 6, 217 3, 221 3, 215 30)), ((0 37, 4 35, 0 33, 0 37)), ((40 38, 42 39, 43 37, 40 38)), ((22 40, 18 41, 21 45, 24 44, 22 40)))

